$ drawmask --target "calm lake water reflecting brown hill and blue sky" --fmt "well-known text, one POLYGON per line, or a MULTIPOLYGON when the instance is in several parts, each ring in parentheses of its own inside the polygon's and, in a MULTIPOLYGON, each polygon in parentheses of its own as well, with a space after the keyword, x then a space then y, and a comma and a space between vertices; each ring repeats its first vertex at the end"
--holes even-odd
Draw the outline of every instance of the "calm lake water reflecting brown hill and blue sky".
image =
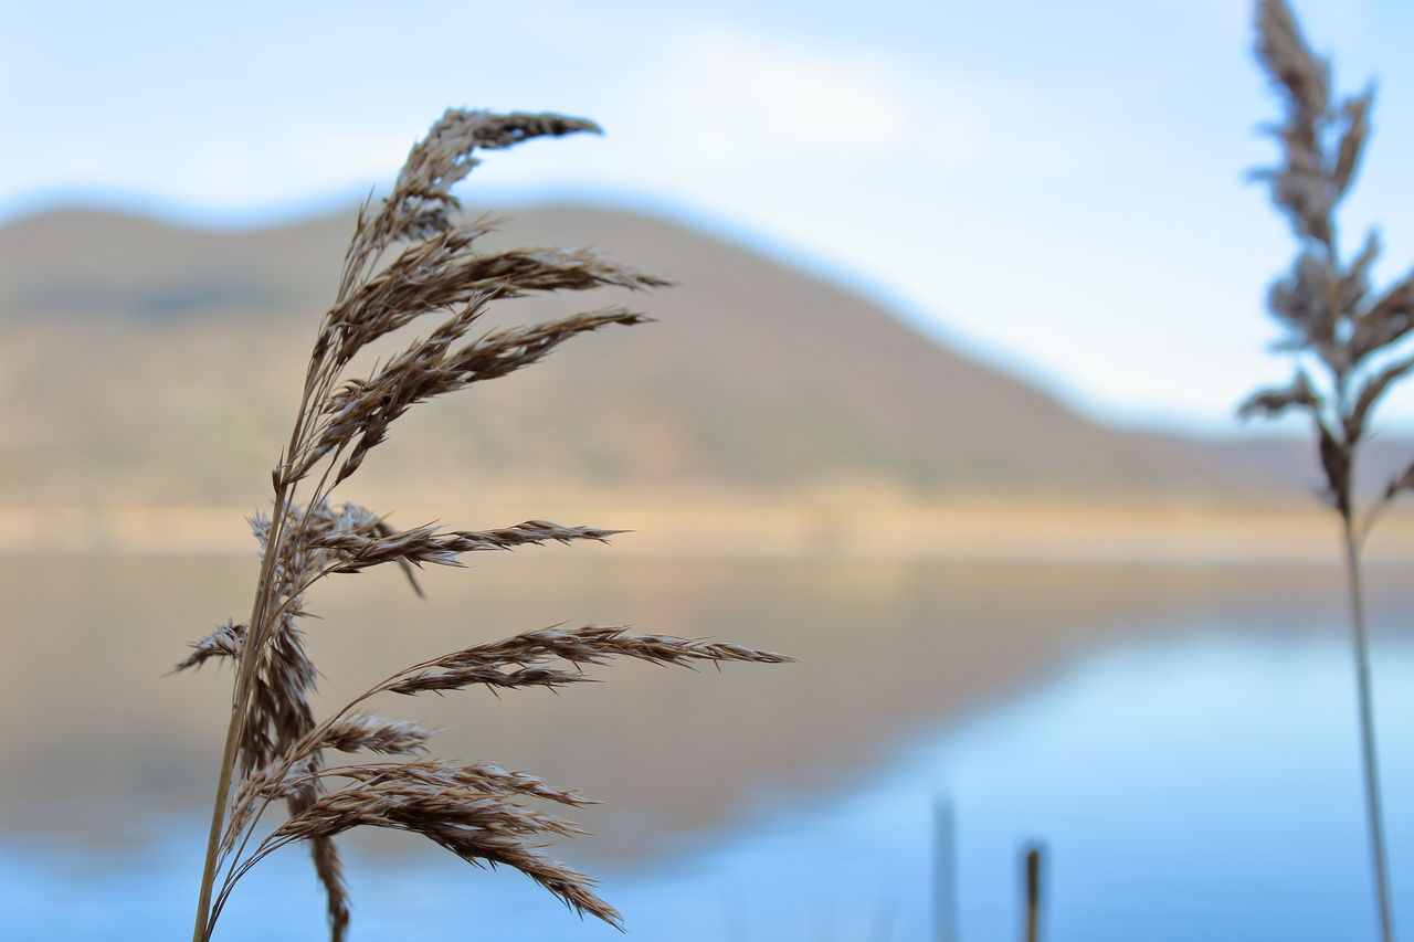
MULTIPOLYGON (((645 941, 1374 938, 1333 570, 478 559, 315 594, 328 700, 465 644, 632 622, 793 653, 600 669, 501 700, 396 697, 436 752, 605 805, 553 856, 645 941), (954 866, 947 866, 953 860, 954 866)), ((247 607, 249 560, 17 559, 0 571, 0 938, 189 935, 226 670, 163 676, 247 607)), ((1397 919, 1414 926, 1414 584, 1372 578, 1397 919)), ((346 843, 356 939, 615 939, 515 873, 406 835, 346 843)), ((318 939, 304 856, 264 861, 218 939, 318 939)))

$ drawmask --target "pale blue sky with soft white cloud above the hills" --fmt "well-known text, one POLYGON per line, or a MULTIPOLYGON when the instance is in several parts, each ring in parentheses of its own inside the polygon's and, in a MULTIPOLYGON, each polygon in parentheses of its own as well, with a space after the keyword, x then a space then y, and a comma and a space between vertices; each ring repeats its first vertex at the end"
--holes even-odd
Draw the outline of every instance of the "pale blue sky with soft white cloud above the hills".
MULTIPOLYGON (((1346 232, 1414 259, 1414 4, 1298 0, 1380 79, 1346 232), (1408 120, 1406 120, 1408 117, 1408 120)), ((1244 0, 6 3, 0 221, 216 225, 348 205, 448 105, 594 117, 462 191, 628 201, 885 297, 1106 419, 1233 430, 1284 382, 1290 257, 1244 170, 1277 113, 1244 0)), ((1414 396, 1394 403, 1414 420, 1414 396)))

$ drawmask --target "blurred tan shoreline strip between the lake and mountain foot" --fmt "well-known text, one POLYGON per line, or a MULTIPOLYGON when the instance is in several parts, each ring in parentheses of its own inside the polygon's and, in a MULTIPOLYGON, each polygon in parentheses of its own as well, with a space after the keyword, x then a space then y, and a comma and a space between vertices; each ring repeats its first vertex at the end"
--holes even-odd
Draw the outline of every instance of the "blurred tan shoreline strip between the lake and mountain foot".
MULTIPOLYGON (((940 559, 1099 563, 1328 563, 1336 533, 1319 508, 1223 512, 1212 508, 1076 506, 994 499, 874 505, 759 499, 600 501, 580 513, 633 533, 614 559, 940 559), (684 509, 686 508, 686 509, 684 509)), ((0 553, 255 556, 235 506, 0 505, 0 553)), ((489 511, 495 515, 495 508, 489 511)), ((444 519, 479 519, 461 508, 444 519)), ((396 515, 424 523, 416 509, 396 515)), ((499 516, 498 516, 499 519, 499 516)), ((1370 562, 1414 563, 1414 519, 1396 516, 1372 537, 1370 562)))

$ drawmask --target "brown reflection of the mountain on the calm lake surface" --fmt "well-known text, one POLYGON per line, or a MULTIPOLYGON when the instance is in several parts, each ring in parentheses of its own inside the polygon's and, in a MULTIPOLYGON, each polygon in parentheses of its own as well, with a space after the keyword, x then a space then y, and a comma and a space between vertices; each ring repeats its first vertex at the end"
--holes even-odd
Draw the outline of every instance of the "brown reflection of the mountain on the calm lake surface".
MULTIPOLYGON (((592 550, 475 562, 433 573, 430 603, 383 573, 318 594, 324 621, 310 631, 325 692, 348 696, 403 662, 564 620, 628 621, 802 659, 720 675, 621 665, 559 696, 380 704, 444 726, 443 754, 605 799, 587 816, 604 836, 581 853, 626 860, 720 827, 775 789, 847 788, 915 730, 1000 702, 1116 639, 1233 611, 1274 632, 1340 624, 1328 570, 626 564, 592 550)), ((18 559, 0 571, 11 625, 0 668, 6 827, 140 835, 140 810, 201 806, 229 678, 161 672, 187 639, 243 607, 250 566, 18 559), (113 806, 127 810, 115 816, 113 806)))

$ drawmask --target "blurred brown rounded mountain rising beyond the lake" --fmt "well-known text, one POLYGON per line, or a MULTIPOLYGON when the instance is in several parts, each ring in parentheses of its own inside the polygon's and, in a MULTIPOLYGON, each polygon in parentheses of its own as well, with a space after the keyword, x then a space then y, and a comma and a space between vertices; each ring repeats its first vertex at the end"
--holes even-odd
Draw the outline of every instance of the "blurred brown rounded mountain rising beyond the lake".
MULTIPOLYGON (((0 499, 260 499, 351 228, 88 211, 0 228, 0 499)), ((1260 457, 1291 446, 1104 427, 868 298, 663 219, 522 209, 486 240, 512 243, 591 246, 682 284, 502 304, 520 321, 628 303, 660 322, 414 410, 369 477, 1203 495, 1291 467, 1260 457)), ((1311 477, 1297 461, 1282 487, 1311 477)))

